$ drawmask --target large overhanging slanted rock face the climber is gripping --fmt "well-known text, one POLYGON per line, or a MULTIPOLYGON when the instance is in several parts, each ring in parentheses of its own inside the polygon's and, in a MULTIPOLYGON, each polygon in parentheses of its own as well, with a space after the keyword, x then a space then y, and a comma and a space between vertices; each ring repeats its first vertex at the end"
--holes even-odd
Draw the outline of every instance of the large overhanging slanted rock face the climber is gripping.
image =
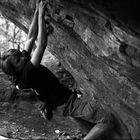
MULTIPOLYGON (((132 139, 140 138, 140 24, 137 3, 118 0, 46 0, 49 51, 79 89, 113 112, 132 139)), ((27 32, 33 0, 0 1, 5 17, 27 32), (22 9, 22 10, 21 10, 22 9)))

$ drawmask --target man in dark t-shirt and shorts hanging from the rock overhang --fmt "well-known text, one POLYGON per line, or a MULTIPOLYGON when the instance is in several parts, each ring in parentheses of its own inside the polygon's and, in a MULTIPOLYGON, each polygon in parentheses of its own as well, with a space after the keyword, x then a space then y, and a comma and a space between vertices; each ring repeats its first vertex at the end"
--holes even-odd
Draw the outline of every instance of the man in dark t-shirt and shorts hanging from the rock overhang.
POLYGON ((45 7, 44 2, 39 1, 24 50, 20 52, 10 49, 4 52, 2 69, 13 77, 21 93, 34 94, 45 103, 41 112, 46 119, 51 120, 53 110, 65 104, 64 116, 71 116, 85 128, 90 126, 86 128, 87 135, 84 140, 105 138, 113 130, 112 115, 95 101, 86 101, 85 97, 78 98, 76 91, 69 90, 59 82, 54 74, 40 64, 47 46, 48 35, 52 32, 52 26, 48 24, 48 21, 47 24, 45 23, 45 7), (30 57, 35 40, 36 48, 30 57))

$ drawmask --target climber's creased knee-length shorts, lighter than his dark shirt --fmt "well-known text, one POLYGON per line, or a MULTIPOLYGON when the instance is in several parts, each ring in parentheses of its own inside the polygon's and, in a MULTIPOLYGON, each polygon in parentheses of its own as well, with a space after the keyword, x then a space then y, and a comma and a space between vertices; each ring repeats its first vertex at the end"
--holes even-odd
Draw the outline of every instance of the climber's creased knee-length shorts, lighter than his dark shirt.
POLYGON ((71 95, 65 105, 64 116, 80 118, 93 125, 111 124, 112 115, 106 112, 95 100, 86 100, 85 97, 77 98, 76 94, 71 95))

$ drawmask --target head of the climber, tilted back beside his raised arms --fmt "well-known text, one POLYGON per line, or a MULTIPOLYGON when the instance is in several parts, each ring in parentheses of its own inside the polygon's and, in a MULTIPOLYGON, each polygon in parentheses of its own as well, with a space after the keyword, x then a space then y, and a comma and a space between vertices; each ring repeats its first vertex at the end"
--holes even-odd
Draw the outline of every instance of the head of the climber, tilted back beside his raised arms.
POLYGON ((17 75, 23 68, 25 57, 17 49, 10 49, 2 54, 2 70, 8 75, 17 75))

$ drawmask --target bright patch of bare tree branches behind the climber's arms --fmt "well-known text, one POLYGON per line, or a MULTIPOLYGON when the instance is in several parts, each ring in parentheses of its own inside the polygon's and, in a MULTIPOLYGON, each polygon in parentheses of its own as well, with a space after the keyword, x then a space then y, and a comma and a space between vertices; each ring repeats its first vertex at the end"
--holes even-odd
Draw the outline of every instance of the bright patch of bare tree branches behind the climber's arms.
POLYGON ((26 34, 0 14, 0 52, 9 48, 22 49, 26 34))

